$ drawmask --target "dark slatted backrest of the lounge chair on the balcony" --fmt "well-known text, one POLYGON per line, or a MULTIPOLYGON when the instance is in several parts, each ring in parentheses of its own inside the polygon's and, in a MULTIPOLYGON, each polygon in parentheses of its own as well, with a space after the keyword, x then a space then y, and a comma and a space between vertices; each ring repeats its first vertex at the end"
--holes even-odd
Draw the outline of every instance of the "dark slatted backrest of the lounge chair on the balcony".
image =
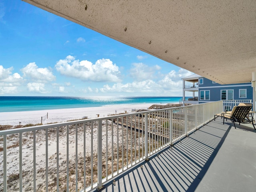
POLYGON ((232 110, 231 115, 237 120, 237 121, 244 121, 244 118, 248 115, 250 110, 252 109, 252 104, 248 103, 240 103, 238 106, 236 106, 234 112, 232 110))

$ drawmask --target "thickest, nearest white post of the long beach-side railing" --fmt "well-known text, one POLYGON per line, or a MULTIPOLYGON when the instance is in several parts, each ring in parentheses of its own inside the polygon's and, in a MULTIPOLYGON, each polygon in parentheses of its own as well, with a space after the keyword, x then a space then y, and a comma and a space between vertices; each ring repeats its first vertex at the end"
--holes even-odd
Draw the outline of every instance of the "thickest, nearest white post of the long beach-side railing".
POLYGON ((102 185, 102 120, 98 120, 98 185, 97 189, 103 188, 102 185))

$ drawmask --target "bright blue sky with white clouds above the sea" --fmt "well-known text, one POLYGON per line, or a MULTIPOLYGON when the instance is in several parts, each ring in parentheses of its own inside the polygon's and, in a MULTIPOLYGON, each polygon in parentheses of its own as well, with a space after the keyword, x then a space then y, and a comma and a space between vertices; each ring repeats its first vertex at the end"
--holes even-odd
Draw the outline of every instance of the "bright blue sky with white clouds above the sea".
POLYGON ((182 96, 192 72, 21 0, 0 1, 0 96, 182 96))

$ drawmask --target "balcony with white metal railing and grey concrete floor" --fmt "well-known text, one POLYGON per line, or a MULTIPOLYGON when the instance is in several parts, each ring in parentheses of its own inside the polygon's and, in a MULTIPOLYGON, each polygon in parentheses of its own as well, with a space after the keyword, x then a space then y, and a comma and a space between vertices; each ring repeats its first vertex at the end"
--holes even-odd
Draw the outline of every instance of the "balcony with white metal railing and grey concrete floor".
POLYGON ((255 130, 212 121, 222 111, 218 101, 0 131, 0 190, 253 191, 255 130))

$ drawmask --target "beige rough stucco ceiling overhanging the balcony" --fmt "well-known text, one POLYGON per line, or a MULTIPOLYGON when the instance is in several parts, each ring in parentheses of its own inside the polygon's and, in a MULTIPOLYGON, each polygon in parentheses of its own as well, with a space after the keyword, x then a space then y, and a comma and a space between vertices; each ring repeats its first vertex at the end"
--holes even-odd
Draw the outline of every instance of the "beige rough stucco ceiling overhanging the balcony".
POLYGON ((256 72, 255 0, 24 1, 220 84, 256 72))

